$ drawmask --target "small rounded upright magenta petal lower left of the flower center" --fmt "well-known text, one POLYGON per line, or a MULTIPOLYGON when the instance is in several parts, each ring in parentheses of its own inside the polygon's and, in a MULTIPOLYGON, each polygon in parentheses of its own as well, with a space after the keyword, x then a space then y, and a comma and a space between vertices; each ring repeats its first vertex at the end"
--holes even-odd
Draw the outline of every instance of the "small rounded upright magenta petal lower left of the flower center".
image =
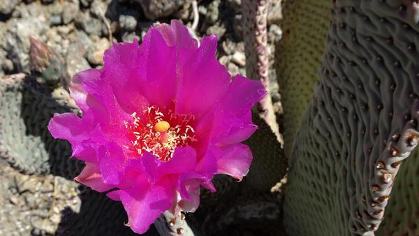
POLYGON ((115 142, 108 142, 98 149, 98 161, 105 184, 119 184, 124 174, 125 156, 115 142))

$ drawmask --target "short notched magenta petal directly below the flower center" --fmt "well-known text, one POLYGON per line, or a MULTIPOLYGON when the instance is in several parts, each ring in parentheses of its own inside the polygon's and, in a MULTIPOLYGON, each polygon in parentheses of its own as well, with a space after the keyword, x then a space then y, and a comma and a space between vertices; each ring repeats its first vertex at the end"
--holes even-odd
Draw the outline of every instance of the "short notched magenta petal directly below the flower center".
POLYGON ((161 161, 156 156, 146 152, 142 163, 150 181, 156 182, 162 176, 189 172, 196 166, 196 152, 193 147, 176 147, 169 161, 161 161))

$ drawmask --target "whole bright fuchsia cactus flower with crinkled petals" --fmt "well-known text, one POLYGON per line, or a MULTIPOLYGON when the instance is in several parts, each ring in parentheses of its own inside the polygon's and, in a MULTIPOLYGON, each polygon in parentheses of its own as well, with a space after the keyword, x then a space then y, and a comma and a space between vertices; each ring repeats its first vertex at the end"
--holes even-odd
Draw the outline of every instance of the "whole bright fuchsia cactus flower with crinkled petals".
POLYGON ((78 182, 122 201, 128 225, 145 233, 163 212, 193 212, 211 179, 241 180, 252 154, 240 142, 257 126, 251 106, 260 82, 216 60, 216 36, 198 47, 180 22, 149 29, 141 45, 117 43, 101 70, 74 75, 71 96, 82 117, 56 114, 48 128, 68 140, 86 166, 78 182))

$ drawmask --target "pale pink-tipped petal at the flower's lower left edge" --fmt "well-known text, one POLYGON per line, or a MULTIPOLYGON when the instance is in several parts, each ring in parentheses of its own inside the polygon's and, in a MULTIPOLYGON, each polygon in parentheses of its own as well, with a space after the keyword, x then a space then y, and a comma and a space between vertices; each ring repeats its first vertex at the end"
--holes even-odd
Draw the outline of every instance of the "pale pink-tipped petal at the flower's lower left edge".
POLYGON ((78 177, 74 178, 75 181, 80 182, 86 186, 91 187, 98 192, 108 191, 115 186, 105 184, 102 180, 101 170, 93 163, 86 163, 82 172, 78 177))

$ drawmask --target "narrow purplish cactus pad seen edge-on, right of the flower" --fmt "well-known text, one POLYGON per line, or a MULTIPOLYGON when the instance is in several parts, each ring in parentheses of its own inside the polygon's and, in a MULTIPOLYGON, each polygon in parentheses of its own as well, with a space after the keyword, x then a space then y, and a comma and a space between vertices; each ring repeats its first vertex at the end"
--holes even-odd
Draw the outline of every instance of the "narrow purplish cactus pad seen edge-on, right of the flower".
MULTIPOLYGON (((243 34, 246 47, 246 74, 248 78, 260 80, 267 90, 269 86, 267 53, 267 0, 242 1, 243 34)), ((270 94, 260 101, 263 119, 269 124, 277 140, 282 144, 279 126, 270 94)))

